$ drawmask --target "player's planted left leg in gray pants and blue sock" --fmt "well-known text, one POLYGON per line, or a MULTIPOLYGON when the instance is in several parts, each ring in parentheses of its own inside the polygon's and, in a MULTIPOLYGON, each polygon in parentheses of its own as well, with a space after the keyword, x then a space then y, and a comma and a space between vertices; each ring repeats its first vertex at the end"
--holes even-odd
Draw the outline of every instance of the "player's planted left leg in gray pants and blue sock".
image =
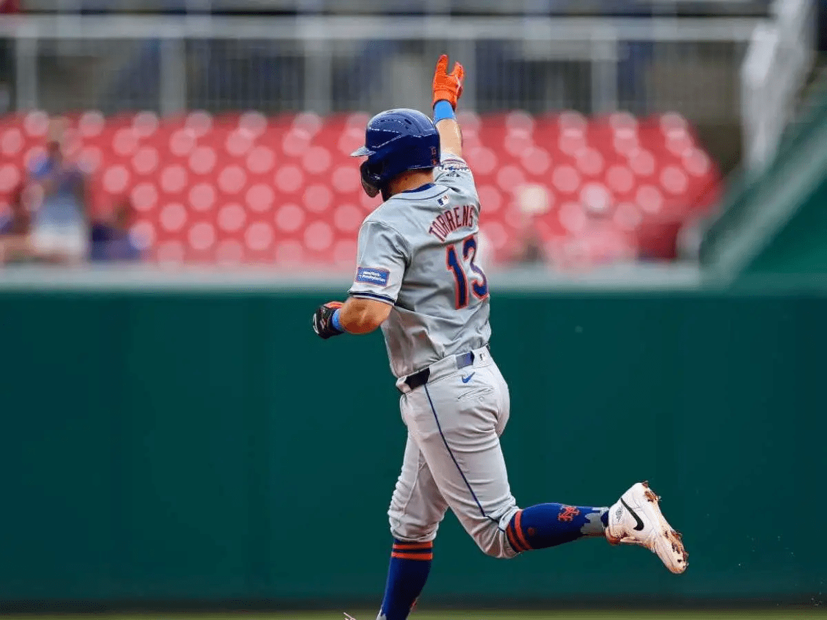
POLYGON ((446 511, 447 503, 409 435, 402 472, 388 510, 394 546, 378 620, 408 617, 428 579, 433 539, 446 511))

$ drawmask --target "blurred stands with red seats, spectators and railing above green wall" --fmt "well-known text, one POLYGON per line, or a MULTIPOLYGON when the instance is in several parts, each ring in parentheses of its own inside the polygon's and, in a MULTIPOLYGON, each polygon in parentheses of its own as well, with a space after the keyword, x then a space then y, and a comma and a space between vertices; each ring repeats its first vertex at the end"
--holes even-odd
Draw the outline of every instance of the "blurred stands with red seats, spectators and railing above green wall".
POLYGON ((696 260, 822 87, 825 7, 0 0, 0 260, 345 269, 376 205, 347 154, 442 51, 489 264, 696 260))

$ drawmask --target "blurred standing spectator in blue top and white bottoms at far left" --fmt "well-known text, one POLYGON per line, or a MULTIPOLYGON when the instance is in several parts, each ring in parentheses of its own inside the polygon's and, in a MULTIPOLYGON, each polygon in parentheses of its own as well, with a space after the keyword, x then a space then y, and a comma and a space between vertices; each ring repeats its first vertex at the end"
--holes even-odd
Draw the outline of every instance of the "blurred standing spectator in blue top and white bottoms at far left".
POLYGON ((50 122, 46 153, 31 163, 32 184, 42 198, 31 222, 31 242, 45 260, 71 263, 86 258, 88 223, 86 179, 79 167, 65 159, 66 122, 50 122))

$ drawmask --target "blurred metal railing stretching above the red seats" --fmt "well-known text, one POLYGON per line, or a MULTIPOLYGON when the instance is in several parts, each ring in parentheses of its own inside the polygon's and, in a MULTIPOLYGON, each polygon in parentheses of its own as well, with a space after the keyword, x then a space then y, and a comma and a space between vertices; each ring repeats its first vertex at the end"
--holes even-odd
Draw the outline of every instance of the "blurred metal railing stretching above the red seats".
POLYGON ((7 17, 17 109, 170 114, 427 107, 433 59, 466 65, 466 107, 674 110, 739 124, 759 18, 7 17))

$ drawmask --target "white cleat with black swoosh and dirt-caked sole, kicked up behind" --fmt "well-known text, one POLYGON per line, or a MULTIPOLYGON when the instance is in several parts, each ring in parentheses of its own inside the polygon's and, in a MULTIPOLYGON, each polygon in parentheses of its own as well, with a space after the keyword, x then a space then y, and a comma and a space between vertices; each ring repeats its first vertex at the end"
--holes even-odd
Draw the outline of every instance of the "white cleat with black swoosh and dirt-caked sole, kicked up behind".
POLYGON ((682 573, 688 565, 689 554, 683 548, 681 532, 673 529, 663 518, 657 505, 660 498, 649 489, 648 482, 638 482, 620 496, 609 508, 609 527, 606 539, 613 545, 645 546, 657 553, 667 569, 682 573))

